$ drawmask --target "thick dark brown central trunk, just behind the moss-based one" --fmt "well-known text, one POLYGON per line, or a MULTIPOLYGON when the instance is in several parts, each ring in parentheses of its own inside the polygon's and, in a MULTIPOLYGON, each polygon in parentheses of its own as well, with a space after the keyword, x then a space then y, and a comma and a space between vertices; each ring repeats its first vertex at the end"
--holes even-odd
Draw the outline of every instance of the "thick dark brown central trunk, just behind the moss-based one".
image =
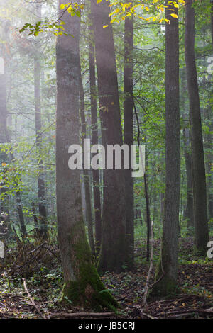
MULTIPOLYGON (((112 27, 107 1, 91 0, 96 50, 102 145, 122 145, 119 91, 112 27), (103 28, 104 24, 107 28, 103 28)), ((107 165, 107 158, 106 158, 107 165)), ((99 271, 123 271, 128 266, 124 201, 124 170, 104 170, 102 249, 99 271)))

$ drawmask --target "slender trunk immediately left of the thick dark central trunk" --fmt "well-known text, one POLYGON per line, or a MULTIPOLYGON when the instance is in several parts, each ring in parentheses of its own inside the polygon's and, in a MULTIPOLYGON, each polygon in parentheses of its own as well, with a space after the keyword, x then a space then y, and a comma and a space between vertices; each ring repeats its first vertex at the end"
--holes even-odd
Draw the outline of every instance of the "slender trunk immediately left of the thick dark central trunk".
MULTIPOLYGON (((91 123, 92 123, 92 145, 98 144, 98 124, 97 124, 97 89, 95 79, 94 63, 94 31, 92 25, 89 26, 89 87, 91 101, 91 123)), ((99 256, 102 244, 102 210, 101 196, 99 188, 99 170, 92 170, 93 196, 94 196, 94 227, 95 227, 95 250, 99 256)))

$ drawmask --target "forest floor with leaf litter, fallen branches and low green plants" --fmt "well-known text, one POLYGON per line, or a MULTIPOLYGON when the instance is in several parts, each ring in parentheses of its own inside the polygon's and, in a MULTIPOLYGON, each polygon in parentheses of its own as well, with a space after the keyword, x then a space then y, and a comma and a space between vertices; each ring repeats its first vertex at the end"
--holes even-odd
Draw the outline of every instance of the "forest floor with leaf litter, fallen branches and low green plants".
MULTIPOLYGON (((146 242, 138 242, 135 269, 131 272, 105 272, 102 281, 121 308, 115 314, 89 315, 89 310, 62 307, 62 271, 57 247, 43 243, 35 247, 7 250, 6 263, 0 261, 0 319, 3 318, 213 318, 213 260, 193 254, 192 238, 180 239, 179 292, 167 300, 148 300, 141 307, 149 264, 146 242), (18 251, 18 254, 17 254, 18 251), (13 262, 13 264, 11 264, 13 262), (85 313, 87 312, 87 313, 85 313), (75 315, 76 314, 76 315, 75 315)), ((160 242, 154 243, 153 264, 158 261, 160 242)), ((154 283, 154 271, 149 287, 154 283)))

